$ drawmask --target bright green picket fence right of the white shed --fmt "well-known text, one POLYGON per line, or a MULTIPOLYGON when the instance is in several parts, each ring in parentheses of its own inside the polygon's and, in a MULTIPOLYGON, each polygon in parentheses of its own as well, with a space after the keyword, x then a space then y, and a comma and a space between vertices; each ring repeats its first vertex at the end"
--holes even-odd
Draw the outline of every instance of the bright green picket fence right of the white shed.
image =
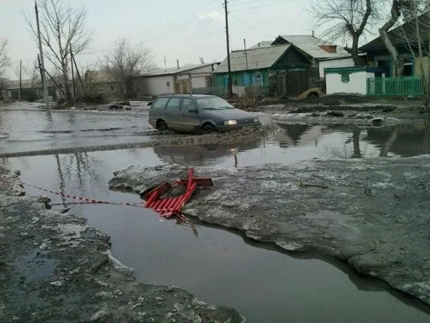
POLYGON ((368 78, 369 96, 422 96, 423 85, 420 78, 410 76, 368 78))

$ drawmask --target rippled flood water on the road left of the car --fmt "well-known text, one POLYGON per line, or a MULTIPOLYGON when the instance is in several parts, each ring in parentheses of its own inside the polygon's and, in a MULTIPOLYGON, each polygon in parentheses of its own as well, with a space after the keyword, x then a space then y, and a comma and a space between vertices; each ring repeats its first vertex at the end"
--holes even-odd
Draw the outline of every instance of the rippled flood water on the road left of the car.
POLYGON ((0 112, 0 153, 126 144, 148 140, 145 113, 0 112))

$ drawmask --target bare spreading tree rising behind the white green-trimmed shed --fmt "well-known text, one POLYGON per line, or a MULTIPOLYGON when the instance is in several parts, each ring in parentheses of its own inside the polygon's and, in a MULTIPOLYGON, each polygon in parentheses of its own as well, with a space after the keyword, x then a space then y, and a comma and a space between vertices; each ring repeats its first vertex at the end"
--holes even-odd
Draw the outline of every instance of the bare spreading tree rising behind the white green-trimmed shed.
POLYGON ((363 65, 359 56, 360 37, 369 32, 368 23, 374 17, 377 0, 315 0, 310 14, 317 19, 317 28, 324 28, 323 37, 352 40, 344 50, 351 54, 355 65, 363 65))

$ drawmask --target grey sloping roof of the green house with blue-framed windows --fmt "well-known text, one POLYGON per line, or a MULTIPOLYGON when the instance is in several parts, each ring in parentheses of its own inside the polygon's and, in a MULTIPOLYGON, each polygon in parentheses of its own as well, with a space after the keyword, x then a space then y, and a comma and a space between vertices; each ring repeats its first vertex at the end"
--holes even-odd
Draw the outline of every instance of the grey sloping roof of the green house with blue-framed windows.
MULTIPOLYGON (((248 70, 266 69, 273 66, 289 47, 290 45, 276 45, 246 50, 246 55, 248 56, 248 70)), ((232 72, 245 71, 245 51, 231 52, 230 62, 232 72)), ((227 58, 224 59, 214 73, 225 72, 228 72, 227 58)))

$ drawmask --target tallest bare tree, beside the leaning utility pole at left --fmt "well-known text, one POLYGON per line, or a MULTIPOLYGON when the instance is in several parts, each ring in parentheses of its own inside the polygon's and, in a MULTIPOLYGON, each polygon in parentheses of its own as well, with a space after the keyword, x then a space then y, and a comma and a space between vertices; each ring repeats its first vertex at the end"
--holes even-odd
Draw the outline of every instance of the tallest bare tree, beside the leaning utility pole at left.
MULTIPOLYGON (((61 82, 54 82, 60 94, 71 102, 69 68, 70 46, 73 55, 82 53, 91 41, 91 33, 86 29, 86 9, 71 8, 66 0, 37 0, 39 7, 40 33, 44 55, 52 63, 61 82)), ((24 14, 30 32, 37 37, 32 15, 24 14)), ((53 81, 53 80, 52 80, 53 81)))

